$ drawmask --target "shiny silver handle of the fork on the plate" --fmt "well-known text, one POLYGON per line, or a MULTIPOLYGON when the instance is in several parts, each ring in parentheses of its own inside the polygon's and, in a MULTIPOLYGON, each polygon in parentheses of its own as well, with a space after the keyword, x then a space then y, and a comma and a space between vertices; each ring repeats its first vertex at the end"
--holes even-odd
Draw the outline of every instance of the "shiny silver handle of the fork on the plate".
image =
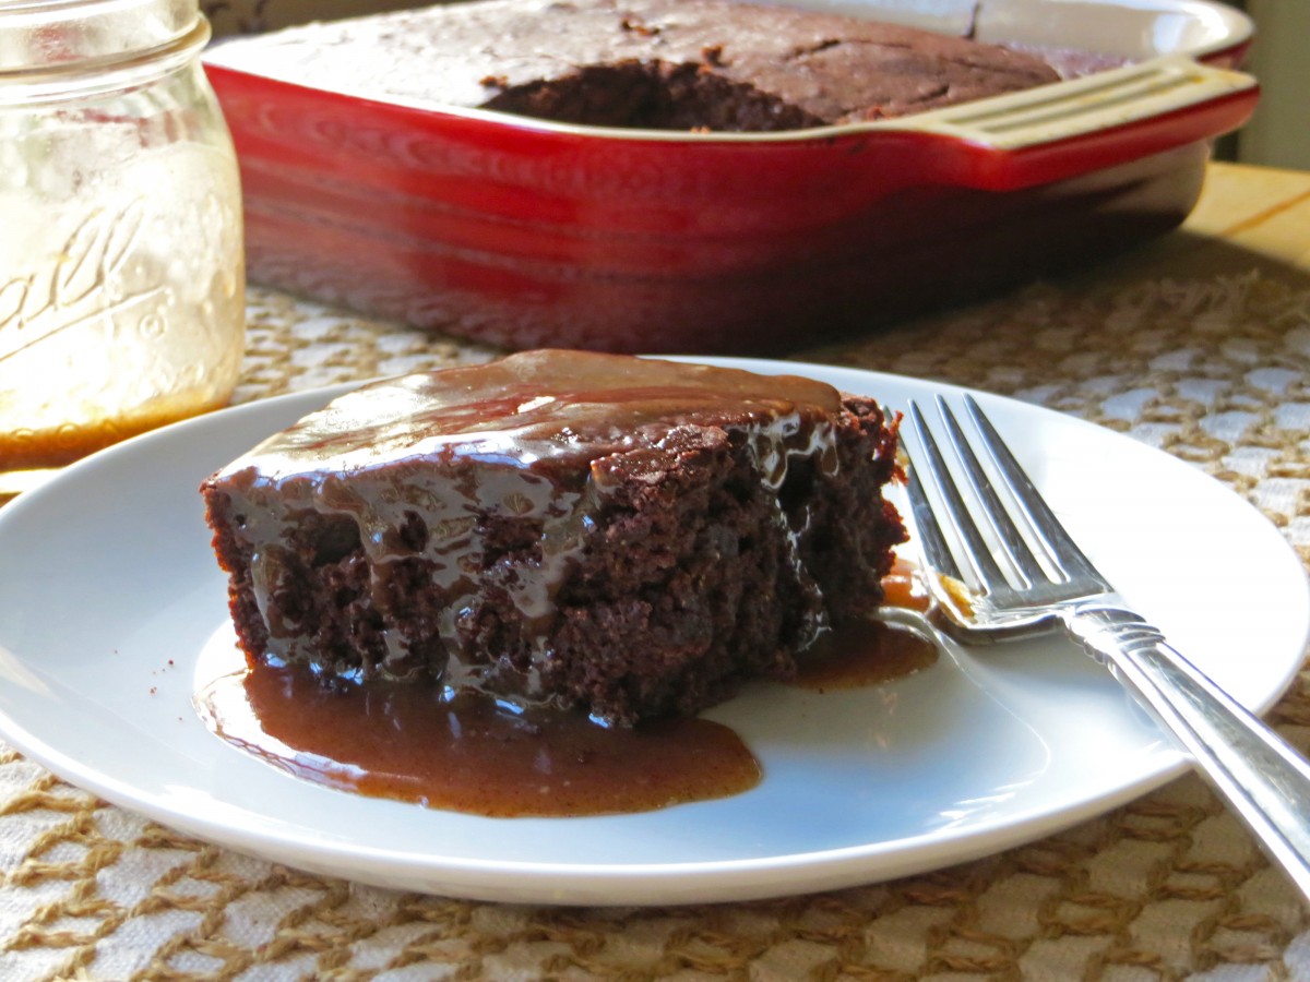
POLYGON ((1310 765, 1137 614, 1076 609, 1066 627, 1191 752, 1310 898, 1310 765))

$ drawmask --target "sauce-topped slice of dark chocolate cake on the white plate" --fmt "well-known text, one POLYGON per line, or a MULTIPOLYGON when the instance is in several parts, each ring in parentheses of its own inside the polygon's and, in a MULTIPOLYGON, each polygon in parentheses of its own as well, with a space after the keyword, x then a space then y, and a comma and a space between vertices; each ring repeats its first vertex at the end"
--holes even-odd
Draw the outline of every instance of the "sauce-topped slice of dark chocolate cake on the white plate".
POLYGON ((364 386, 202 492, 252 665, 630 723, 878 606, 895 450, 811 380, 536 351, 364 386))

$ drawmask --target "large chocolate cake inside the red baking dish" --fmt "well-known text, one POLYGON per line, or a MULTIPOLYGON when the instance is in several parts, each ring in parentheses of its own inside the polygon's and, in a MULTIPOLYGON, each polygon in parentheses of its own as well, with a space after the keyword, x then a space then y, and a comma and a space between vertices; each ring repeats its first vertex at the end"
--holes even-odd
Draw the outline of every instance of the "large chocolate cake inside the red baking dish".
POLYGON ((884 119, 1060 80, 1032 54, 730 0, 478 0, 291 27, 212 58, 375 98, 655 130, 884 119))

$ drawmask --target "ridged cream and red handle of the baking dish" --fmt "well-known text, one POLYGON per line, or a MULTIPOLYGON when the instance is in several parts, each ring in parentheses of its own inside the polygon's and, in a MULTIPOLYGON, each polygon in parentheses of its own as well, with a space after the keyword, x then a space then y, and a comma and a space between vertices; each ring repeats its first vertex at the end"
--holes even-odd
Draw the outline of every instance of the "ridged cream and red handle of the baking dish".
POLYGON ((1178 55, 924 113, 905 130, 933 137, 938 179, 1018 190, 1229 132, 1258 98, 1252 76, 1178 55))

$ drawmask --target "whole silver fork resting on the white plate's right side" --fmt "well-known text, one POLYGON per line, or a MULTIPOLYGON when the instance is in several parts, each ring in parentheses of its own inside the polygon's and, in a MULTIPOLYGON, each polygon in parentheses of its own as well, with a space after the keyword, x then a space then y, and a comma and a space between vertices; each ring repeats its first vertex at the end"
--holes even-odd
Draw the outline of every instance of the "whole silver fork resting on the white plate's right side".
POLYGON ((1310 765, 1124 605, 977 402, 964 398, 975 440, 942 397, 935 403, 960 479, 910 402, 908 494, 943 630, 967 644, 1065 630, 1191 753, 1310 898, 1310 765))

